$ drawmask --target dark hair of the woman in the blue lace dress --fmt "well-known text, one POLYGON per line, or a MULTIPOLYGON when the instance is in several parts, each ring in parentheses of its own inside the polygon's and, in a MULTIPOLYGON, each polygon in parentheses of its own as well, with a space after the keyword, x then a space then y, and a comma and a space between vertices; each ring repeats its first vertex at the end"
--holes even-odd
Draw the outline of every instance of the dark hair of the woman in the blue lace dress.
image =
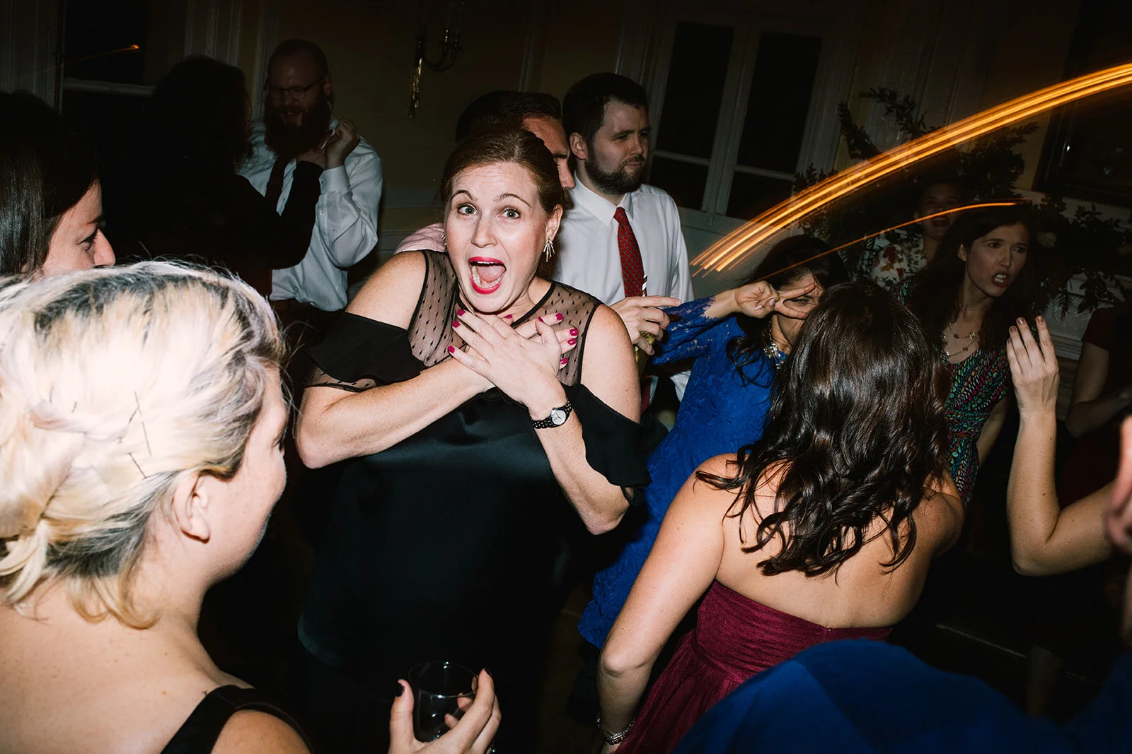
MULTIPOLYGON (((823 291, 848 283, 849 271, 841 257, 837 253, 826 253, 829 251, 829 244, 813 236, 795 235, 783 239, 766 252, 763 261, 743 285, 765 279, 775 289, 781 289, 805 277, 807 272, 814 276, 823 291), (814 257, 816 259, 813 259, 814 257)), ((727 344, 727 355, 739 375, 746 380, 743 367, 762 357, 763 348, 770 338, 771 318, 760 319, 739 314, 736 322, 743 329, 743 335, 727 344)), ((754 380, 761 379, 762 374, 762 372, 755 374, 754 380)))

